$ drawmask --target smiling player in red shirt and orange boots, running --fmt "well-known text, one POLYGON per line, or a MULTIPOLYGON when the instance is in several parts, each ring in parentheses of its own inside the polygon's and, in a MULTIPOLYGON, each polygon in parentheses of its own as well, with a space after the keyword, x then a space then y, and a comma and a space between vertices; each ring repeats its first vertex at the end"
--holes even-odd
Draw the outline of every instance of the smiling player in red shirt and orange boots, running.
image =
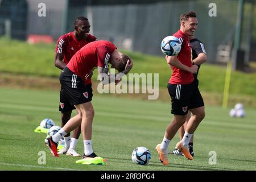
POLYGON ((188 143, 197 126, 204 118, 204 115, 201 114, 204 106, 197 106, 192 100, 192 98, 195 99, 195 97, 199 96, 197 93, 199 90, 196 89, 197 86, 193 82, 193 73, 197 72, 198 67, 192 64, 189 36, 194 34, 197 24, 196 13, 193 11, 180 16, 180 30, 174 36, 181 42, 181 51, 177 56, 166 56, 167 63, 170 67, 173 67, 172 76, 168 82, 168 91, 171 96, 171 113, 174 114, 174 120, 166 127, 162 143, 156 146, 160 162, 164 165, 168 165, 168 145, 177 130, 185 122, 189 109, 193 113, 193 117, 189 120, 183 139, 176 144, 176 148, 179 148, 189 160, 193 159, 189 152, 188 143))

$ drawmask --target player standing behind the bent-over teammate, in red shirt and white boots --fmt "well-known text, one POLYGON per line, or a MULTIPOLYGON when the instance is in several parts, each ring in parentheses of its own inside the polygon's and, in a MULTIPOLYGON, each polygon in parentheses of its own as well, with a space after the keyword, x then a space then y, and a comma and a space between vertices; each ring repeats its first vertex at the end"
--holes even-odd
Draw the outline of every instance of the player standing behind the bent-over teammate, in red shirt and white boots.
MULTIPOLYGON (((74 22, 74 31, 69 32, 60 36, 57 41, 57 46, 55 49, 55 66, 63 70, 66 65, 71 60, 72 56, 75 55, 80 48, 84 47, 86 44, 93 42, 96 39, 95 36, 89 34, 90 23, 84 16, 79 16, 74 22)), ((92 72, 89 74, 92 75, 92 72)), ((85 85, 88 87, 89 96, 92 97, 92 82, 90 76, 85 80, 85 85)), ((61 87, 60 90, 60 104, 59 110, 61 111, 61 127, 68 122, 71 118, 72 110, 76 109, 75 106, 71 105, 67 100, 67 96, 64 94, 64 90, 61 87)), ((64 136, 65 147, 58 152, 58 154, 67 154, 69 156, 80 156, 77 154, 75 147, 78 138, 81 134, 81 126, 73 130, 72 138, 70 133, 64 136)))

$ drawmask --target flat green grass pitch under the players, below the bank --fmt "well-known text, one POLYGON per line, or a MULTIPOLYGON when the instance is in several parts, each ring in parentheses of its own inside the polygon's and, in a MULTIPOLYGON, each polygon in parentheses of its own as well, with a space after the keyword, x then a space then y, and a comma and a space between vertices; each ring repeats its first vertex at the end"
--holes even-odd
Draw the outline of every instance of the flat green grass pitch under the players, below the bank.
MULTIPOLYGON (((245 118, 230 118, 229 109, 206 107, 206 118, 195 134, 195 159, 170 155, 163 166, 155 150, 171 121, 170 104, 97 95, 93 98, 93 148, 106 159, 105 166, 76 164, 80 158, 49 154, 46 134, 34 133, 44 118, 60 125, 59 93, 53 91, 0 89, 0 170, 256 170, 256 112, 246 109, 245 118), (148 166, 135 165, 131 152, 144 146, 151 151, 148 166), (46 164, 38 164, 38 152, 46 151, 46 164), (209 164, 216 151, 217 164, 209 164)), ((175 147, 177 136, 170 144, 175 147)), ((80 137, 77 151, 83 153, 80 137)))

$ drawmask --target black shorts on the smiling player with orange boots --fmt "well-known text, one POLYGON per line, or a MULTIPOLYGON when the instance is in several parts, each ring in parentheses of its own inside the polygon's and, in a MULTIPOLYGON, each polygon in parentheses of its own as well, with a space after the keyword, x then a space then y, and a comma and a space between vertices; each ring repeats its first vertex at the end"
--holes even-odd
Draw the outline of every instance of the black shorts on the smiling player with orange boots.
POLYGON ((171 96, 172 114, 186 115, 189 109, 204 106, 196 81, 186 85, 168 83, 167 88, 171 96))

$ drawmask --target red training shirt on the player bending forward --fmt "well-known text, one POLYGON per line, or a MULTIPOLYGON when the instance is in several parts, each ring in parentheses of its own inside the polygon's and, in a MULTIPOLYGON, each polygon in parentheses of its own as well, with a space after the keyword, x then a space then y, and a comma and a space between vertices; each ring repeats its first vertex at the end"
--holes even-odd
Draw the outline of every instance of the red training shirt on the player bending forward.
POLYGON ((97 67, 109 68, 109 58, 117 47, 109 41, 98 40, 82 47, 69 61, 67 67, 85 80, 85 75, 97 67))

